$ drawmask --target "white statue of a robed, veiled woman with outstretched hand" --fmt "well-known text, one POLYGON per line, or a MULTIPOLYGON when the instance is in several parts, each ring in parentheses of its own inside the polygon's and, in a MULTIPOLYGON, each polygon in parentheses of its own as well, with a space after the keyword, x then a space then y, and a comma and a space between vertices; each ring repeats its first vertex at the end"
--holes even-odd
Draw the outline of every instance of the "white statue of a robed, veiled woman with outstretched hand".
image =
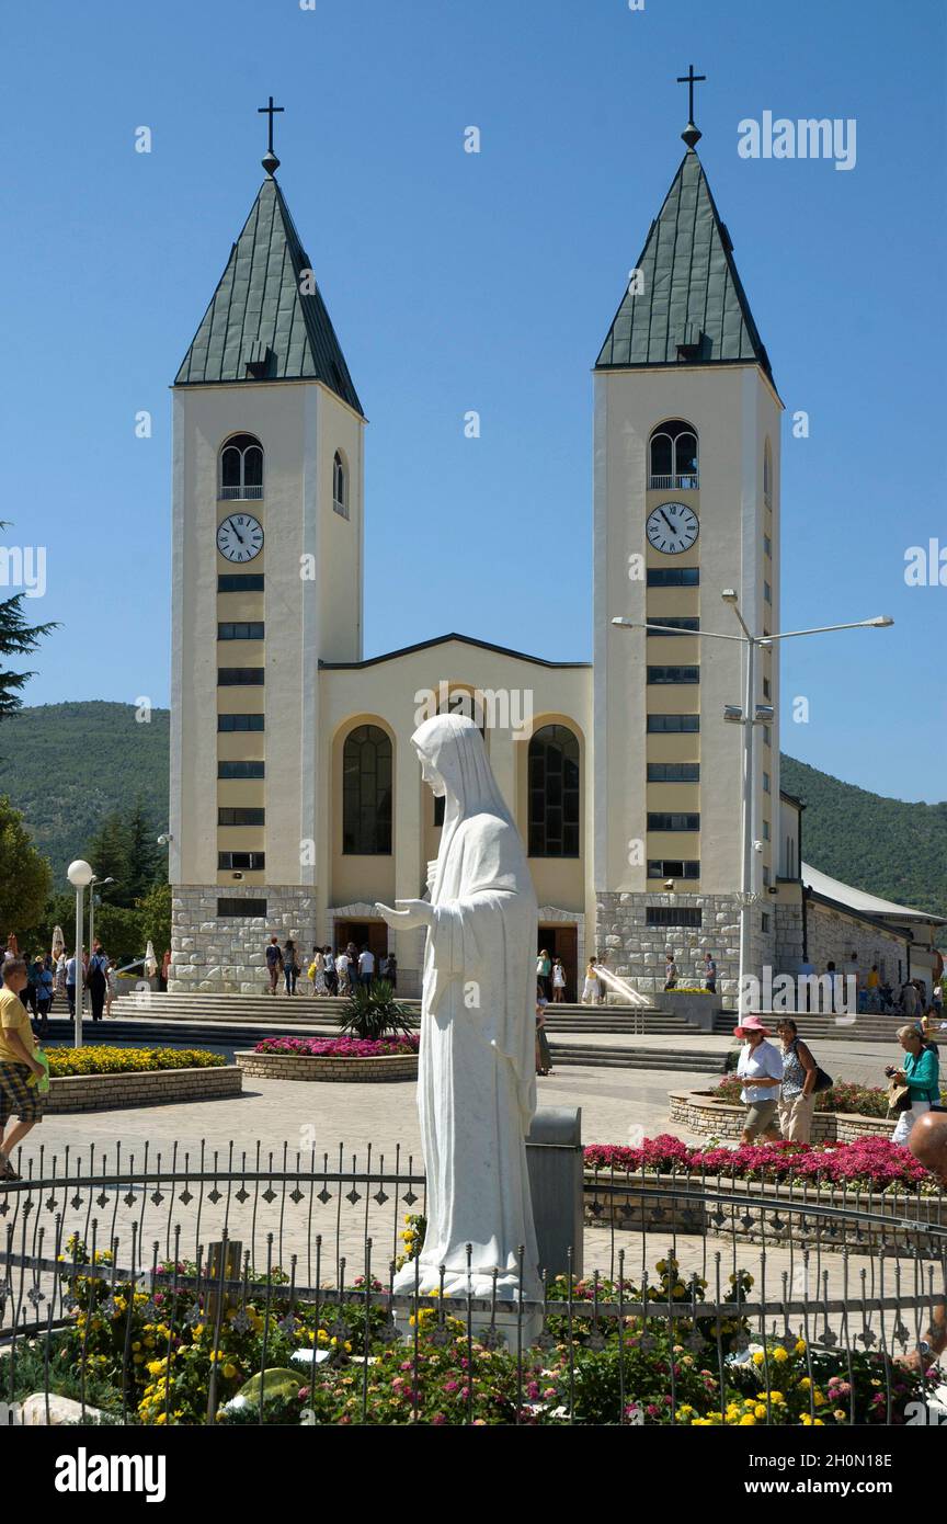
MULTIPOLYGON (((539 1297, 525 1134, 536 1109, 536 893, 483 736, 460 715, 414 732, 422 776, 445 796, 431 899, 378 905, 428 927, 417 1108, 428 1180, 420 1292, 539 1297)), ((402 1266, 396 1291, 414 1288, 402 1266)))

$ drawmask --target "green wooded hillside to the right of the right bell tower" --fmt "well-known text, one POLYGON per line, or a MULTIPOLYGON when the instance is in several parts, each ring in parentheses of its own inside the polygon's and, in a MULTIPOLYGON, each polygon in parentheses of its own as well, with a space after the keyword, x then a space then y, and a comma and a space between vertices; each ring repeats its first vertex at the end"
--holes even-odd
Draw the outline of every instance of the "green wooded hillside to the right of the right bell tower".
POLYGON ((947 916, 947 802, 906 805, 787 756, 781 783, 805 800, 807 863, 871 895, 947 916))

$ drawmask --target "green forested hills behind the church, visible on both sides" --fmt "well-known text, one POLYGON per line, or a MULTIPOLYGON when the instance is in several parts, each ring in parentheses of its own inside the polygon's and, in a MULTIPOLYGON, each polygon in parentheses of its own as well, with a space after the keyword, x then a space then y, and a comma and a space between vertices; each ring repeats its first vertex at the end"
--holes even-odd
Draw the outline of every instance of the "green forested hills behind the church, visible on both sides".
MULTIPOLYGON (((56 879, 105 815, 140 800, 167 826, 169 713, 132 704, 44 704, 0 724, 0 792, 23 811, 56 879)), ((805 800, 802 855, 847 884, 947 916, 947 802, 906 805, 783 757, 783 788, 805 800)))

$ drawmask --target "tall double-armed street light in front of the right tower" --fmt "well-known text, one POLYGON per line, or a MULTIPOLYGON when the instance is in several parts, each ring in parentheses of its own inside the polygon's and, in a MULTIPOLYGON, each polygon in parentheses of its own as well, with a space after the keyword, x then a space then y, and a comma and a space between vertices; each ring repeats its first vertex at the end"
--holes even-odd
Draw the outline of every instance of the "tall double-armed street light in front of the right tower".
MULTIPOLYGON (((746 672, 745 672, 745 692, 743 704, 725 704, 723 718, 731 724, 743 725, 743 774, 741 774, 741 817, 743 817, 743 852, 741 852, 741 875, 740 875, 740 980, 737 985, 737 1010, 740 1013, 749 1010, 749 962, 751 962, 751 908, 757 901, 754 892, 754 728, 757 725, 769 725, 775 718, 772 704, 757 704, 757 651, 760 648, 773 646, 776 640, 795 640, 798 636, 827 636, 834 634, 837 629, 888 629, 894 625, 894 619, 888 614, 878 614, 875 619, 857 619, 847 625, 818 625, 815 629, 784 629, 776 636, 755 636, 748 628, 743 614, 740 613, 740 600, 734 588, 728 587, 720 594, 725 604, 729 604, 737 622, 740 625, 741 634, 731 636, 723 634, 717 629, 673 629, 667 625, 649 625, 641 619, 612 619, 614 625, 623 625, 626 629, 644 629, 646 632, 656 636, 697 636, 699 640, 738 640, 741 646, 746 646, 746 672)), ((799 867, 799 872, 802 869, 799 867)))

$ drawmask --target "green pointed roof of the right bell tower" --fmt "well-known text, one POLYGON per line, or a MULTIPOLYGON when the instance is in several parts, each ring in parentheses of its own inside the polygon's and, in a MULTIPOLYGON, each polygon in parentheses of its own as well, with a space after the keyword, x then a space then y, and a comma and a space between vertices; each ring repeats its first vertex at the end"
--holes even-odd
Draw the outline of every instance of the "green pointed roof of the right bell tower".
POLYGON ((772 381, 732 247, 688 148, 635 265, 642 291, 626 291, 595 369, 755 360, 772 381))

